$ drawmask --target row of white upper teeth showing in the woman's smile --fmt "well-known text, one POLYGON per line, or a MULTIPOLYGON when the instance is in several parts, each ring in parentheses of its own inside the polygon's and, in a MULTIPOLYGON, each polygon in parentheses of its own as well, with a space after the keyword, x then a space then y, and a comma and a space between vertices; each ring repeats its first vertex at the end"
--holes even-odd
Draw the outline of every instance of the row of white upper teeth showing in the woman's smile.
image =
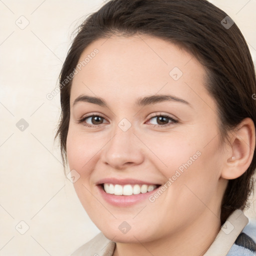
POLYGON ((110 184, 104 183, 104 190, 108 194, 115 194, 115 195, 132 195, 132 194, 139 194, 139 193, 146 193, 154 190, 157 186, 156 185, 119 185, 119 184, 110 184))

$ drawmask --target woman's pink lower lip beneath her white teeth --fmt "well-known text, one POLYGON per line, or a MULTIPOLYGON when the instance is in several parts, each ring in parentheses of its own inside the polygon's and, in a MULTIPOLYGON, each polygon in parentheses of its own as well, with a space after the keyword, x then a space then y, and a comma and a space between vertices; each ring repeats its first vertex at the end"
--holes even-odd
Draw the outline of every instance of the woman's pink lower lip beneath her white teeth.
POLYGON ((130 206, 130 205, 142 202, 148 199, 148 197, 151 194, 155 193, 155 191, 159 188, 157 187, 154 190, 146 193, 139 193, 139 194, 132 194, 132 195, 114 195, 114 194, 106 193, 101 185, 97 185, 97 187, 103 199, 115 206, 130 206))

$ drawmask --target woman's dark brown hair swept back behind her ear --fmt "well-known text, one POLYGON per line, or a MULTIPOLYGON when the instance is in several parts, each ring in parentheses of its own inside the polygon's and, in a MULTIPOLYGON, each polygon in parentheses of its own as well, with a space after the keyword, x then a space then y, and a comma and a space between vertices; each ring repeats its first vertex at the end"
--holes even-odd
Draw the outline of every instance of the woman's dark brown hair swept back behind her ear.
MULTIPOLYGON (((256 124, 255 71, 248 46, 227 14, 206 0, 110 0, 80 25, 60 73, 59 136, 63 165, 69 124, 73 72, 82 51, 98 38, 112 34, 147 34, 179 45, 207 70, 206 88, 218 108, 220 137, 249 117, 256 124), (230 27, 226 26, 231 25, 230 27)), ((256 126, 256 125, 255 125, 256 126)), ((254 153, 248 169, 228 181, 222 199, 221 223, 235 209, 243 209, 256 168, 254 153)))

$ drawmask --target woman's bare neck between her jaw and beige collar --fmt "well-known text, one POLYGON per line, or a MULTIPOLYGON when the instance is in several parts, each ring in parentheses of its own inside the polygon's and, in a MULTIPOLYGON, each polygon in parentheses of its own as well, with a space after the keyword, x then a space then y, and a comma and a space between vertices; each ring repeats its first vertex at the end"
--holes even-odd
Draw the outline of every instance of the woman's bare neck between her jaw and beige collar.
POLYGON ((209 209, 200 221, 150 242, 116 243, 113 256, 203 255, 220 230, 220 219, 209 209))

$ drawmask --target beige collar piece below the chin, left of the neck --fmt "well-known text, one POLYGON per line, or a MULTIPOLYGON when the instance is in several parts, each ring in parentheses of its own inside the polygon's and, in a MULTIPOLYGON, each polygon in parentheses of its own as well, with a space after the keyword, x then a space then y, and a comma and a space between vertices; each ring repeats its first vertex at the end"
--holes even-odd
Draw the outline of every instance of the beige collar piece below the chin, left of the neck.
POLYGON ((107 239, 102 232, 81 245, 70 256, 112 256, 115 242, 107 239))

